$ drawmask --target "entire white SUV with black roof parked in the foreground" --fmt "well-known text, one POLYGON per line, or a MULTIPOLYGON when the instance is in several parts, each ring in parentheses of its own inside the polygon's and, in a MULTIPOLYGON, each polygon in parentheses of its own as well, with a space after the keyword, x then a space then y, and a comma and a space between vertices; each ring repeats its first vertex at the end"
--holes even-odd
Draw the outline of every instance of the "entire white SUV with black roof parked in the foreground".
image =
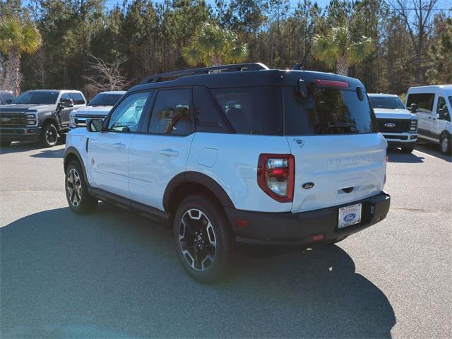
POLYGON ((236 244, 338 242, 386 217, 386 146, 362 83, 262 64, 145 78, 66 141, 75 213, 107 201, 172 226, 186 271, 222 277, 236 244))

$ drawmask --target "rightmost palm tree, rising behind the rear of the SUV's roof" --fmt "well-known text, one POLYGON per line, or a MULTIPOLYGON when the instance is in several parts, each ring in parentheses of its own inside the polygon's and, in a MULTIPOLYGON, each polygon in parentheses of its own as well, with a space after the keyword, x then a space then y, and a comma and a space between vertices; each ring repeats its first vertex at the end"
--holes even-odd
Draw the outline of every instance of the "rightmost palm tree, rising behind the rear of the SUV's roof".
POLYGON ((347 76, 350 66, 360 64, 374 52, 374 41, 370 37, 352 40, 346 27, 331 28, 326 35, 316 35, 312 46, 314 57, 325 62, 336 73, 347 76))

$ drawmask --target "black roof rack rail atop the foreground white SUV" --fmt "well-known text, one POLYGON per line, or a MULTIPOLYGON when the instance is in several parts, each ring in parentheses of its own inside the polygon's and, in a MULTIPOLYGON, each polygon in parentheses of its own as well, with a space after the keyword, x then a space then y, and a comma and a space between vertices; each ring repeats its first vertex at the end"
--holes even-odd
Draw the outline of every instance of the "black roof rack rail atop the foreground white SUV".
POLYGON ((194 76, 195 74, 209 74, 209 73, 222 73, 222 72, 241 72, 241 71, 260 71, 268 69, 268 67, 259 62, 252 62, 248 64, 233 64, 233 65, 220 65, 212 67, 203 67, 201 69, 184 69, 183 71, 174 71, 168 73, 155 74, 153 76, 147 76, 141 81, 143 83, 158 83, 160 81, 173 80, 182 76, 194 76))

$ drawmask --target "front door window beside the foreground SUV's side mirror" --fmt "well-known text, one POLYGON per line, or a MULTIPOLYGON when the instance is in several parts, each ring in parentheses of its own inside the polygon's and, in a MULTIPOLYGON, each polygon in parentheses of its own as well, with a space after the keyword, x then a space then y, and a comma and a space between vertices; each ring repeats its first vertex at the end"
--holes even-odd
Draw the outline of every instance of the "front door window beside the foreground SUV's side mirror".
POLYGON ((109 131, 136 132, 143 110, 150 97, 149 92, 129 95, 114 109, 109 119, 109 131))

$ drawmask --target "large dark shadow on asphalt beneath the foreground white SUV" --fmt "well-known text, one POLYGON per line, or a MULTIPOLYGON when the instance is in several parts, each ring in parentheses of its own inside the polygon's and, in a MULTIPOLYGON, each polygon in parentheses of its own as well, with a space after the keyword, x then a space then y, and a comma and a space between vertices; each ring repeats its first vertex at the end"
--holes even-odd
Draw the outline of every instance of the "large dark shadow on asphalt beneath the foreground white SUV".
POLYGON ((0 229, 1 338, 389 338, 394 311, 331 245, 238 255, 225 282, 191 280, 167 227, 100 203, 0 229))

